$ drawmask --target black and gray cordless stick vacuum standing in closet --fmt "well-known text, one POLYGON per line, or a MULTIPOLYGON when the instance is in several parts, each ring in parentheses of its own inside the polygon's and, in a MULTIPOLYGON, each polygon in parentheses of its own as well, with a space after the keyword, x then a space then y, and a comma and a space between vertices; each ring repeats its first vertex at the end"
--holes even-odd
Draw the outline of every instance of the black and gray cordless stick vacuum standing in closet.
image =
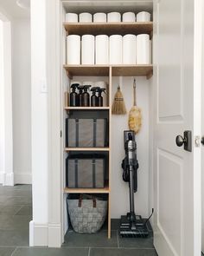
POLYGON ((129 182, 130 213, 121 216, 120 235, 122 237, 147 237, 149 235, 146 220, 135 213, 134 194, 137 192, 137 144, 134 131, 124 131, 125 158, 122 162, 123 180, 129 182))

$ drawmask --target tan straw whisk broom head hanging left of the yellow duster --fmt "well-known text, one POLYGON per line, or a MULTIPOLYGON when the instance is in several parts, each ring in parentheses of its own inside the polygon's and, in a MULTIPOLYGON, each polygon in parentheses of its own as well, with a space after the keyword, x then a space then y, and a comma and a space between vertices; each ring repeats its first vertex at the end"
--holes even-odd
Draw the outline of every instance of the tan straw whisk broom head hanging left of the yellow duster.
POLYGON ((125 115, 127 113, 125 104, 124 104, 124 96, 118 86, 118 91, 114 96, 114 101, 112 102, 112 114, 113 115, 125 115))

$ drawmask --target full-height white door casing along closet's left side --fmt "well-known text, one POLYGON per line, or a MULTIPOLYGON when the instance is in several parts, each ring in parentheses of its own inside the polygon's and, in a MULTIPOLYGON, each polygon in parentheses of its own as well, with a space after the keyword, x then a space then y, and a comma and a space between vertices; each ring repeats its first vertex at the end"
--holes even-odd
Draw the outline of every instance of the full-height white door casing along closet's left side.
POLYGON ((47 82, 48 92, 48 246, 60 247, 62 236, 61 186, 61 1, 47 0, 47 82))

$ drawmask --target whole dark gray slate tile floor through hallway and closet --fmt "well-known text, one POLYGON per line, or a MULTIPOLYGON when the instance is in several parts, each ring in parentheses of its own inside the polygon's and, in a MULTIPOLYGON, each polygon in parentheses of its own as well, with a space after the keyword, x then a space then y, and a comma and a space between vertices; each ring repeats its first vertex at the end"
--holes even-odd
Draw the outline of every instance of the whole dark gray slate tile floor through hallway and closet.
POLYGON ((0 186, 0 256, 156 256, 152 236, 122 239, 118 220, 112 220, 112 239, 105 227, 96 234, 67 231, 61 248, 29 248, 29 221, 32 219, 31 186, 0 186))

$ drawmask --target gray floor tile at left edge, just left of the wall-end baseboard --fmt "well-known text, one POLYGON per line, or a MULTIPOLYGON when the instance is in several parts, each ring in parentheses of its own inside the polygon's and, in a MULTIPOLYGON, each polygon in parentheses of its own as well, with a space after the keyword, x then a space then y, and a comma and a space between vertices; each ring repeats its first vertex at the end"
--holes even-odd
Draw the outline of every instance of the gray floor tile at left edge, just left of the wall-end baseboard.
POLYGON ((0 246, 29 246, 29 229, 0 230, 0 246))

